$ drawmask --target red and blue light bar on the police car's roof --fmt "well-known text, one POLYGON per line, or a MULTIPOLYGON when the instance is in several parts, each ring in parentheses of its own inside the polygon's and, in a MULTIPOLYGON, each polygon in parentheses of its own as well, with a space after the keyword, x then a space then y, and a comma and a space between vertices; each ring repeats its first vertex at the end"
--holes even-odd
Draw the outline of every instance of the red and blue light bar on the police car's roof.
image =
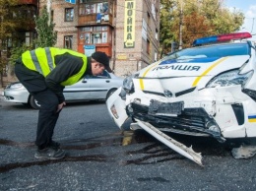
POLYGON ((206 43, 224 42, 232 39, 244 39, 252 37, 249 32, 226 33, 222 35, 212 35, 209 37, 201 37, 194 40, 193 45, 201 45, 206 43))

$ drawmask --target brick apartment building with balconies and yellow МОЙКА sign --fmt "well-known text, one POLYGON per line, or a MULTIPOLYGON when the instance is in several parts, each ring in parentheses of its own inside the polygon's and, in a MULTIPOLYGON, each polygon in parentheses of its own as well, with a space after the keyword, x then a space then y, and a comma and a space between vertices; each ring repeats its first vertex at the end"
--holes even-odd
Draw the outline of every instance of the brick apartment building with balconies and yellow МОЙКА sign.
POLYGON ((127 76, 159 56, 160 0, 39 0, 58 32, 56 47, 90 56, 105 52, 117 76, 127 76))

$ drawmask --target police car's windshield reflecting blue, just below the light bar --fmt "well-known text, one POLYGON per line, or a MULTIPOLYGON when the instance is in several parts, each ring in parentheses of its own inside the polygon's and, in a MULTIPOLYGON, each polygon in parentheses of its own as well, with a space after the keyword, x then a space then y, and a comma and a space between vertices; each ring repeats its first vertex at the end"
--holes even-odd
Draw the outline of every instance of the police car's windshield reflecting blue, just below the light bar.
POLYGON ((210 58, 236 55, 249 55, 250 46, 248 43, 215 44, 211 46, 199 46, 182 49, 170 53, 167 59, 188 59, 188 58, 210 58))

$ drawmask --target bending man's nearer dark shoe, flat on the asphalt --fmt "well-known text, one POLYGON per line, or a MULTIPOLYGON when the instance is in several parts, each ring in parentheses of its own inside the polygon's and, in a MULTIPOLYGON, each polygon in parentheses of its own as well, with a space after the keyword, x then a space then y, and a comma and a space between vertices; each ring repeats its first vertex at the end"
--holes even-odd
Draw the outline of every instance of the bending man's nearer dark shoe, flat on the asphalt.
POLYGON ((61 149, 45 148, 43 150, 37 150, 34 154, 35 159, 63 159, 66 156, 66 152, 61 149))

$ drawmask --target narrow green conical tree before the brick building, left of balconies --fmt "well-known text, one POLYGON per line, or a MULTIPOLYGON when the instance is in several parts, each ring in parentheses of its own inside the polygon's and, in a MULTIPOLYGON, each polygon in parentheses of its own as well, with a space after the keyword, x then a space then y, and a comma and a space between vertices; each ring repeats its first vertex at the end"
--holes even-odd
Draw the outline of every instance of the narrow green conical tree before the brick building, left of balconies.
POLYGON ((35 18, 35 26, 37 32, 37 38, 34 40, 35 45, 37 47, 54 46, 57 32, 54 32, 55 24, 52 23, 52 20, 49 21, 46 6, 43 7, 40 16, 35 18))

